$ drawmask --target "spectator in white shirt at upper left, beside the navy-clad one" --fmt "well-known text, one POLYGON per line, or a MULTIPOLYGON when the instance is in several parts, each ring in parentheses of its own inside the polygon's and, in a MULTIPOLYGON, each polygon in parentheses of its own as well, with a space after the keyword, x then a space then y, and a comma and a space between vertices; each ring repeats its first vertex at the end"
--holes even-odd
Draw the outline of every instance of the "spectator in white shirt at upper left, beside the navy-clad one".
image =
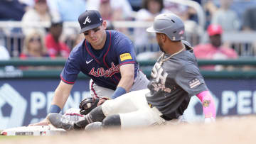
POLYGON ((50 13, 48 11, 48 5, 46 0, 34 0, 35 6, 33 9, 28 10, 22 18, 22 31, 25 35, 33 31, 33 28, 37 28, 38 31, 45 34, 45 28, 38 28, 38 22, 50 23, 50 13))

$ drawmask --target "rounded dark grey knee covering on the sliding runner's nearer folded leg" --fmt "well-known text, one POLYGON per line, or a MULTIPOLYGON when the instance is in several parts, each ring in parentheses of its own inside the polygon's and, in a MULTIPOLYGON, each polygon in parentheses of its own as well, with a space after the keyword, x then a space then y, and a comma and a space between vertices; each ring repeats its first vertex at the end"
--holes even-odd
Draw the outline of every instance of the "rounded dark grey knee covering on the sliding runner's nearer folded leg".
POLYGON ((119 114, 113 114, 111 116, 107 116, 103 121, 102 121, 102 127, 103 128, 110 128, 110 127, 121 127, 121 119, 119 114))

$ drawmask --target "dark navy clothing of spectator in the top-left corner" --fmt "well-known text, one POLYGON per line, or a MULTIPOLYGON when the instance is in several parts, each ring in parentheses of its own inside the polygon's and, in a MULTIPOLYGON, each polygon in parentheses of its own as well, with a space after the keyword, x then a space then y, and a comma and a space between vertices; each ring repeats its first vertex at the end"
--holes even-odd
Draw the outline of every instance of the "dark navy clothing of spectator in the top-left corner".
POLYGON ((26 5, 18 0, 0 1, 0 21, 21 21, 26 11, 26 5))

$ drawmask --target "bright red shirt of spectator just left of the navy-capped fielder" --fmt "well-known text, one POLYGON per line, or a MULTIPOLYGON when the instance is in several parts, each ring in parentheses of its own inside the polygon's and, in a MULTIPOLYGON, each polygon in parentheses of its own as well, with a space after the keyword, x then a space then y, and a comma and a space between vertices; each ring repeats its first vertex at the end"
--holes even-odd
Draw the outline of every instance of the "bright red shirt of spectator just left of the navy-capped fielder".
POLYGON ((56 42, 50 33, 46 35, 46 48, 50 57, 68 57, 70 54, 68 45, 60 41, 56 42))

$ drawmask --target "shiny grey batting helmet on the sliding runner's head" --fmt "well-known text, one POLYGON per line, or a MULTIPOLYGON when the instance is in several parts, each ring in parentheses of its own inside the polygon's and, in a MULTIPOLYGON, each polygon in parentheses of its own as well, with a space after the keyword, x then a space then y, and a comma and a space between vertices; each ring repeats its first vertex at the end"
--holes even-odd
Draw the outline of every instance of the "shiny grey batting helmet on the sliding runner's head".
POLYGON ((170 40, 178 41, 183 39, 184 35, 184 23, 174 13, 159 14, 154 18, 154 24, 146 31, 152 33, 164 33, 170 40))

